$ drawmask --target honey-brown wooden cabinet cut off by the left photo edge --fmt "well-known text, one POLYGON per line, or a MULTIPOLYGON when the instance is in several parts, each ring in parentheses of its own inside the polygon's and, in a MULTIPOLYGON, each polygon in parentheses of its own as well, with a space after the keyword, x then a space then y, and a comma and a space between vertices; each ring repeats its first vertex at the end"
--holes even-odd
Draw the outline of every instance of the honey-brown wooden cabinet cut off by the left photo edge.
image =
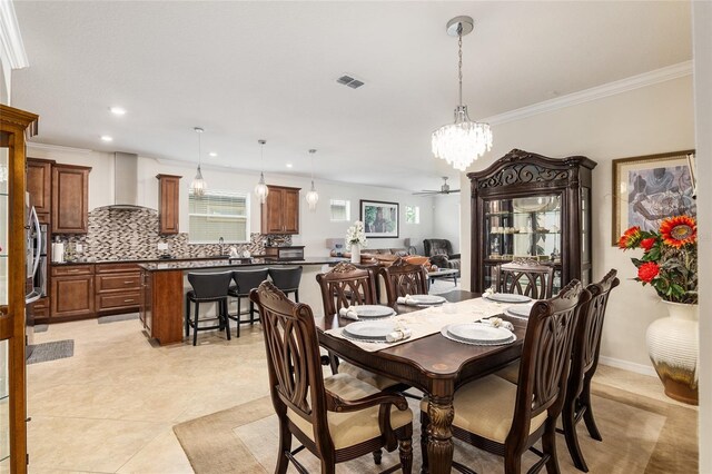
POLYGON ((26 156, 38 116, 0 103, 0 472, 27 472, 26 156))

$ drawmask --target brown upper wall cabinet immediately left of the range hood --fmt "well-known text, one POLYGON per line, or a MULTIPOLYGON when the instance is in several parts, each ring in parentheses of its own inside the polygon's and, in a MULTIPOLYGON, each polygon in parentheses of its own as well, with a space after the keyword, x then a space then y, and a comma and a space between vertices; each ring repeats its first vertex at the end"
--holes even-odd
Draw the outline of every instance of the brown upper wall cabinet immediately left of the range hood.
POLYGON ((90 167, 52 166, 52 234, 87 234, 90 167))

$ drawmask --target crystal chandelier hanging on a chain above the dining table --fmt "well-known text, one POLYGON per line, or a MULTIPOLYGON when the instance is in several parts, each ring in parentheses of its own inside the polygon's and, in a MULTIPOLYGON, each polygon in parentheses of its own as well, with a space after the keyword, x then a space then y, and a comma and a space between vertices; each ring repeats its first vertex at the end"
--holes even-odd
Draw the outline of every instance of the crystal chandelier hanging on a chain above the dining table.
POLYGON ((467 106, 463 106, 463 36, 472 32, 473 28, 471 17, 455 17, 447 22, 447 34, 457 37, 459 105, 455 108, 455 122, 435 130, 432 139, 433 155, 461 171, 492 149, 490 125, 472 121, 467 106))

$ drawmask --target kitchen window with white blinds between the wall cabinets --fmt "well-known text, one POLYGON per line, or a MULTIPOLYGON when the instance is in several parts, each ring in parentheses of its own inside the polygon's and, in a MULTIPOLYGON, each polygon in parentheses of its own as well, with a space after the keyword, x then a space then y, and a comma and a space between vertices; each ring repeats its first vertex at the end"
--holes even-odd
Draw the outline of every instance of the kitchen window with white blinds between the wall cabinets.
POLYGON ((188 194, 190 244, 249 241, 249 192, 209 189, 205 196, 188 194))

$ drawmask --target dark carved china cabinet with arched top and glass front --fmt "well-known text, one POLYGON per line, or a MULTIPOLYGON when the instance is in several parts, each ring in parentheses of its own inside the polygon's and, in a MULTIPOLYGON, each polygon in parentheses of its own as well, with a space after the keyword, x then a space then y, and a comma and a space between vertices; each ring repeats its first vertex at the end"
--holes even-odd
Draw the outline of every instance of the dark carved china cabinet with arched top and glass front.
POLYGON ((595 161, 514 149, 483 171, 472 189, 471 290, 494 284, 503 263, 554 267, 554 292, 591 283, 591 174, 595 161))

